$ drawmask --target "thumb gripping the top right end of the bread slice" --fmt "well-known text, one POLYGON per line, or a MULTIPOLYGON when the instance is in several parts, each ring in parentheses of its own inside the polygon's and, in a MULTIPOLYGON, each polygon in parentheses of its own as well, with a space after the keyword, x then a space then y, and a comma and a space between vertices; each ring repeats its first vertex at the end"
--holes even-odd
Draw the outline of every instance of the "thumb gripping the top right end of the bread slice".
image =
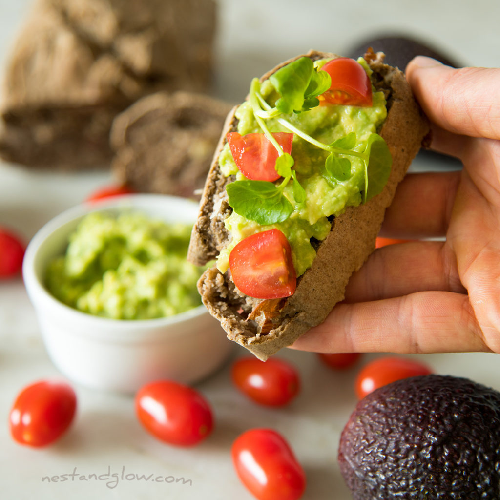
POLYGON ((456 69, 417 56, 406 78, 432 122, 457 134, 500 138, 500 69, 456 69))

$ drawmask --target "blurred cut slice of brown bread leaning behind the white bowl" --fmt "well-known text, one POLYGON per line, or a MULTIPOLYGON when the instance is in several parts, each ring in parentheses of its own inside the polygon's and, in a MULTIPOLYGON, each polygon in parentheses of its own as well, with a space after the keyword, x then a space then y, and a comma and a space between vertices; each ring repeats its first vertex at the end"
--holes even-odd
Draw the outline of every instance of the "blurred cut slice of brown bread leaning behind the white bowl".
POLYGON ((118 114, 111 170, 136 191, 192 197, 204 185, 231 105, 195 92, 156 92, 118 114))

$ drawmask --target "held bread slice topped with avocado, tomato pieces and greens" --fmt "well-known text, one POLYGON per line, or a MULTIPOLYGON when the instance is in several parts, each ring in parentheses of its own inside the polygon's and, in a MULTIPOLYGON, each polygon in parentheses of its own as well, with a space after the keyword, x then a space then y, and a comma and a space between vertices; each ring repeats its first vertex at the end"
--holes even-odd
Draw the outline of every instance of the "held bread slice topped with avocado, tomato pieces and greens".
POLYGON ((310 51, 229 113, 188 259, 227 337, 265 360, 322 322, 375 248, 428 131, 404 74, 368 51, 310 51))

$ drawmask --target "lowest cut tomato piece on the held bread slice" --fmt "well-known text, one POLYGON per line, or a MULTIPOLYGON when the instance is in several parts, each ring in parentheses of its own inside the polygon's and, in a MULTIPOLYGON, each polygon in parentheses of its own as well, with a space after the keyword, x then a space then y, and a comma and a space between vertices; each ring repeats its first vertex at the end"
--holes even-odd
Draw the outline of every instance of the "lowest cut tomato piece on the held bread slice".
POLYGON ((236 287, 250 297, 288 297, 295 291, 290 244, 278 229, 239 241, 229 254, 229 267, 236 287))

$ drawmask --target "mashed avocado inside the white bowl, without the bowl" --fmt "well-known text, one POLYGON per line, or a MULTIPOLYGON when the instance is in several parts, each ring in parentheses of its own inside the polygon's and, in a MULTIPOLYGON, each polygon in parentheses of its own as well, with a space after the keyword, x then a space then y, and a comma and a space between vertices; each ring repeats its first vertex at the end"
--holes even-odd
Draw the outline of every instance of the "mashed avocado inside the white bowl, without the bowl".
POLYGON ((92 212, 64 255, 49 262, 47 289, 61 302, 113 319, 170 316, 201 304, 203 269, 186 260, 191 226, 142 213, 92 212))

